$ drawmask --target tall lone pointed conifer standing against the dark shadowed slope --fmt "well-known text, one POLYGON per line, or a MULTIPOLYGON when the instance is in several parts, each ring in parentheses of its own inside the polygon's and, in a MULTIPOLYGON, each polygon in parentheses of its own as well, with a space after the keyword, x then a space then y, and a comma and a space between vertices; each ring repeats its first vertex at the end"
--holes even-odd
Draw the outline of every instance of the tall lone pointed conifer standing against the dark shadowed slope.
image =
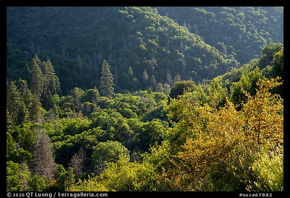
POLYGON ((106 60, 102 64, 102 77, 100 91, 102 96, 111 97, 114 94, 114 78, 110 71, 110 65, 106 60))

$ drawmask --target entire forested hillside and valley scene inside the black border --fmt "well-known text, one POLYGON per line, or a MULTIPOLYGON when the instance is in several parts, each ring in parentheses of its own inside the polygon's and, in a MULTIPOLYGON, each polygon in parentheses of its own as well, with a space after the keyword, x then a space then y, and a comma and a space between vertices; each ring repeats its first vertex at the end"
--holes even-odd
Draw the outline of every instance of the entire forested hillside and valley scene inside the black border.
POLYGON ((284 191, 283 7, 7 7, 7 191, 284 191))

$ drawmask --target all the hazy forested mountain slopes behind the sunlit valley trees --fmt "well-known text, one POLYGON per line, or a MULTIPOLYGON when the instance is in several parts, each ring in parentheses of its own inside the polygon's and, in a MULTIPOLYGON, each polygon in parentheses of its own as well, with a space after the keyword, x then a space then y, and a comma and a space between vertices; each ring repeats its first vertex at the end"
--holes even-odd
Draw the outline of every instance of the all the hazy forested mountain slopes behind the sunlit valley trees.
POLYGON ((282 24, 283 7, 8 7, 7 79, 26 78, 37 53, 64 93, 99 87, 104 59, 116 92, 170 84, 168 74, 198 82, 283 43, 282 24))

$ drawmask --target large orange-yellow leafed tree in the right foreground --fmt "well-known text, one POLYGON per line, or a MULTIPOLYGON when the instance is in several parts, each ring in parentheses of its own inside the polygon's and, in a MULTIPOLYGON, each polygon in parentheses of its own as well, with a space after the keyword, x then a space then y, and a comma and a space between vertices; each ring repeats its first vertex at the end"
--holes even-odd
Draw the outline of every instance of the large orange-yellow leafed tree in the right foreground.
POLYGON ((278 78, 259 80, 254 96, 245 91, 248 99, 241 110, 229 100, 220 109, 201 106, 192 92, 172 100, 167 115, 176 127, 169 131, 169 141, 172 148, 176 143, 180 146, 173 150, 177 157, 165 176, 171 188, 232 191, 249 186, 252 190, 281 190, 282 175, 273 167, 281 169, 282 163, 278 150, 283 147, 283 105, 278 95, 270 93, 280 84, 278 78), (274 152, 267 156, 269 151, 274 152), (263 158, 274 162, 266 165, 263 158), (262 167, 269 167, 268 176, 262 167), (277 186, 270 186, 275 188, 268 185, 273 180, 277 186))

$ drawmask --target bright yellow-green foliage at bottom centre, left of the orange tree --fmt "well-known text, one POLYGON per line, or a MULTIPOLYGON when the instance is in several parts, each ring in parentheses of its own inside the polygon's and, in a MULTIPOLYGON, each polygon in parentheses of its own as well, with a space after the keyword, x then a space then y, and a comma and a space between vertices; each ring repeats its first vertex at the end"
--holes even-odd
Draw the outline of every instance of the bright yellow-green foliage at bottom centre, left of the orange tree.
POLYGON ((129 157, 121 154, 116 163, 96 177, 79 181, 69 190, 77 191, 148 191, 152 189, 154 172, 149 164, 129 162, 129 157))

